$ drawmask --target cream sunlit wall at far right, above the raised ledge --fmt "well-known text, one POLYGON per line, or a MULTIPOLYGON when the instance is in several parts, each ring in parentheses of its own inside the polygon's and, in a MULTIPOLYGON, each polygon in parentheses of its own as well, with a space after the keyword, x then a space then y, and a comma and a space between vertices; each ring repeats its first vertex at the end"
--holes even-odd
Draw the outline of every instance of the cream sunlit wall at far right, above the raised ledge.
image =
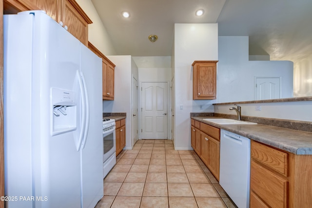
POLYGON ((312 55, 293 65, 293 97, 312 96, 312 55))

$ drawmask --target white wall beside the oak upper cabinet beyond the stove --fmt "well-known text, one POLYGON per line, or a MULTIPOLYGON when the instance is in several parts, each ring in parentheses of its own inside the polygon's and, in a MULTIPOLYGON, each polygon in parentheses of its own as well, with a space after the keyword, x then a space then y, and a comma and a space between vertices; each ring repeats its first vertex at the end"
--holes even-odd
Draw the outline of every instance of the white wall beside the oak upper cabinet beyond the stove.
MULTIPOLYGON (((132 149, 132 78, 138 75, 131 56, 107 56, 115 63, 115 99, 103 101, 103 112, 126 113, 126 146, 132 149)), ((136 77, 138 80, 138 77, 136 77)))

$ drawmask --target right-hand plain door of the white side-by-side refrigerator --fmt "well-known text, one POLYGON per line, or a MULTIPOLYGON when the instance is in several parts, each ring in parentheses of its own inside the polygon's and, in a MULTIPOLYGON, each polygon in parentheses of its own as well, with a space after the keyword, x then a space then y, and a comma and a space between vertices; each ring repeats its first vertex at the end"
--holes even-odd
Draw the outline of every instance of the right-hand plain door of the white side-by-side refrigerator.
POLYGON ((81 145, 82 205, 94 208, 103 196, 102 60, 80 43, 81 73, 89 98, 89 129, 81 145))

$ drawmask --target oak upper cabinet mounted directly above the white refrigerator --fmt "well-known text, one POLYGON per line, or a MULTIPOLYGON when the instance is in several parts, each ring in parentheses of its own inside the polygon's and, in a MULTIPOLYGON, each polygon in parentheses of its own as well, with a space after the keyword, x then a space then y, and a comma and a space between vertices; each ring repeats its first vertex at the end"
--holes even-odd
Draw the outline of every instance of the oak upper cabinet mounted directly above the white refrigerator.
POLYGON ((67 28, 80 42, 88 45, 88 24, 92 21, 75 0, 4 0, 4 14, 26 10, 44 10, 67 28))

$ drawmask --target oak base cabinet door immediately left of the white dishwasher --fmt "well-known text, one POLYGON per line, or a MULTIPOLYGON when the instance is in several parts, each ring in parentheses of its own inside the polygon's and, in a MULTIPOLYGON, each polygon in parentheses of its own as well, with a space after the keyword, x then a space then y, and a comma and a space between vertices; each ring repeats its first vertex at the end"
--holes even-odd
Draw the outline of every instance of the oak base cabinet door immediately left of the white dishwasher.
POLYGON ((210 171, 214 174, 215 178, 219 180, 220 142, 209 136, 208 139, 208 167, 210 171))

